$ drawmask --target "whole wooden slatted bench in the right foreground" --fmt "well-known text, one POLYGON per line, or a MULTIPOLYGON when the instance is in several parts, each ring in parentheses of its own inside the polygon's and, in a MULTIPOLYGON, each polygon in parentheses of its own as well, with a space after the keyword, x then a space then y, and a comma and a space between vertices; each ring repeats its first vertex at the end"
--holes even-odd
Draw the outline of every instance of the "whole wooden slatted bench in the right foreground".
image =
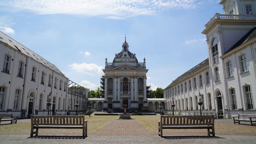
POLYGON ((163 129, 207 129, 208 136, 214 131, 213 116, 166 116, 161 115, 158 120, 158 135, 163 137, 163 129), (212 131, 210 131, 212 129, 212 131))

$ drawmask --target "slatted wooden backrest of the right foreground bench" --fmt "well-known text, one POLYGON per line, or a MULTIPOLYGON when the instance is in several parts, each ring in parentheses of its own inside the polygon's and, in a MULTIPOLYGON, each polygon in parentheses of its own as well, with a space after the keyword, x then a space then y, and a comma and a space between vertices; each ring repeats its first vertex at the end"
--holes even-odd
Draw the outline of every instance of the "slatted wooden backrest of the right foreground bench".
POLYGON ((213 125, 214 116, 163 116, 161 124, 170 125, 213 125))

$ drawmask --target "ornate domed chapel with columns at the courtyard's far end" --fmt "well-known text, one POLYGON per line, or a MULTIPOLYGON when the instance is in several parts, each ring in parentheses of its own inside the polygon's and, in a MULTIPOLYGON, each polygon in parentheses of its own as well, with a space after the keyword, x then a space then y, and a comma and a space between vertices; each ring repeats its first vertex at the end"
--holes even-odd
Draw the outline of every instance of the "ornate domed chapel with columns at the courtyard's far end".
POLYGON ((104 75, 101 78, 101 88, 104 92, 103 109, 122 110, 127 107, 129 110, 141 110, 148 107, 146 60, 138 62, 136 54, 129 51, 129 45, 125 41, 122 51, 115 54, 113 62, 106 58, 104 75))

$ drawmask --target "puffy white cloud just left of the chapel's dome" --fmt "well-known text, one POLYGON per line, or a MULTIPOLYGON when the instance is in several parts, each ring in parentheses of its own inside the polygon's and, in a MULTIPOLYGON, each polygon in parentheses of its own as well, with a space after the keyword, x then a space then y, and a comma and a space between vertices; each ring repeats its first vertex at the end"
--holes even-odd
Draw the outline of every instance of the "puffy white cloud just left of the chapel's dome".
POLYGON ((102 71, 102 67, 96 64, 74 63, 74 64, 71 64, 70 67, 72 67, 72 69, 75 71, 82 72, 88 75, 98 75, 98 74, 101 74, 101 71, 102 71))

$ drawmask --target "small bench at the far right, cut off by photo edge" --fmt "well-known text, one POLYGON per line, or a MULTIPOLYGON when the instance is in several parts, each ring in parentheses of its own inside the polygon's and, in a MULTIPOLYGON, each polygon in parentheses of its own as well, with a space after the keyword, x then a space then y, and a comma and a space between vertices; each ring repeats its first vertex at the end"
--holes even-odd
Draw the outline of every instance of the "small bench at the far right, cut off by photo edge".
POLYGON ((251 122, 251 125, 256 125, 256 114, 238 114, 233 116, 234 124, 240 124, 240 121, 251 122), (236 119, 237 118, 237 119, 236 119))

